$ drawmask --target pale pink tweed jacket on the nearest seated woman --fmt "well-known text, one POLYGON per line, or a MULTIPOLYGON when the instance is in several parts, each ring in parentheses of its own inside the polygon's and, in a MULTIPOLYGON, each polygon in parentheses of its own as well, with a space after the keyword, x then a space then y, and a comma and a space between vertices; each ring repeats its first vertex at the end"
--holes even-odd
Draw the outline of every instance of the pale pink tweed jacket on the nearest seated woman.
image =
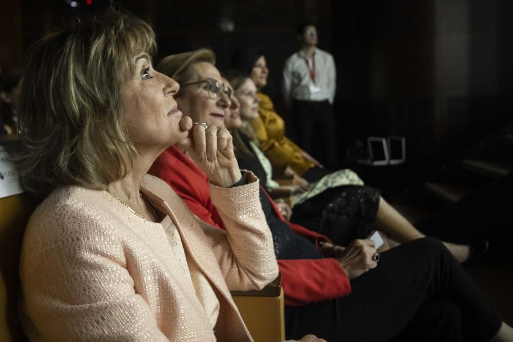
MULTIPOLYGON (((34 341, 248 341, 229 290, 278 275, 259 183, 211 187, 226 232, 193 216, 159 178, 142 192, 166 212, 220 302, 212 331, 162 224, 135 216, 106 191, 53 191, 33 213, 21 260, 25 331, 34 341)), ((166 219, 165 219, 166 220, 166 219)), ((164 220, 164 221, 165 221, 164 220)))

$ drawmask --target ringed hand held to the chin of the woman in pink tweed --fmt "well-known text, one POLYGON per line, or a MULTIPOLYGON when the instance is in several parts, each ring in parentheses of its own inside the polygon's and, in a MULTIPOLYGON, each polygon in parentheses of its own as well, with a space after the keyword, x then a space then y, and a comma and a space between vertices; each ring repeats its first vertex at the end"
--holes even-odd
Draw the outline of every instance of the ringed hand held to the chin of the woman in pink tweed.
POLYGON ((187 151, 213 185, 227 188, 241 179, 233 141, 225 127, 193 125, 187 151))

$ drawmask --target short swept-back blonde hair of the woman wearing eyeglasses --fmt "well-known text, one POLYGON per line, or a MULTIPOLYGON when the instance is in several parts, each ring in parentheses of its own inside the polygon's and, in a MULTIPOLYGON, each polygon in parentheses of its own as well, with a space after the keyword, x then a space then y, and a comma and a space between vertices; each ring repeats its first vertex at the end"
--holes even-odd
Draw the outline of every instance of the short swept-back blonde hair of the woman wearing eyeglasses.
MULTIPOLYGON (((198 81, 194 79, 192 67, 195 64, 202 62, 215 65, 215 53, 210 49, 198 49, 175 55, 169 55, 160 61, 159 65, 156 67, 156 70, 171 77, 178 84, 184 84, 198 81)), ((180 96, 180 91, 176 94, 176 96, 180 96)))

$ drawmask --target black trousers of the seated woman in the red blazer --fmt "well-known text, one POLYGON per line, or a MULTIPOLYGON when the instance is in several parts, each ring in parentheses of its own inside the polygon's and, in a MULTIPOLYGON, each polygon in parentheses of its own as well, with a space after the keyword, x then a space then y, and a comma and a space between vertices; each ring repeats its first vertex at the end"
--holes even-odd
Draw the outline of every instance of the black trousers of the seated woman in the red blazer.
POLYGON ((287 338, 328 341, 488 341, 501 319, 443 244, 431 237, 381 254, 352 292, 285 308, 287 338))

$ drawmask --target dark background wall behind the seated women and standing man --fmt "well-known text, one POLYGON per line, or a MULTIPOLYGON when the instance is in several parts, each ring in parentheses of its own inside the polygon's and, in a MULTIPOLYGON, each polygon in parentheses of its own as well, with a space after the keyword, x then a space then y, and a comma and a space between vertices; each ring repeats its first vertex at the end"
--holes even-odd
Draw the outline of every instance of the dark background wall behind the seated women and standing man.
MULTIPOLYGON (((28 46, 63 18, 108 1, 71 8, 65 0, 0 0, 0 64, 21 64, 28 46)), ((344 2, 335 0, 124 0, 148 19, 159 54, 211 47, 224 70, 231 53, 260 46, 265 89, 281 102, 285 58, 298 48, 295 25, 318 23, 320 47, 337 63, 340 144, 369 135, 404 135, 413 171, 437 167, 511 121, 513 3, 509 0, 344 2)), ((343 152, 343 151, 342 151, 343 152)), ((343 153, 342 153, 343 154, 343 153)))

